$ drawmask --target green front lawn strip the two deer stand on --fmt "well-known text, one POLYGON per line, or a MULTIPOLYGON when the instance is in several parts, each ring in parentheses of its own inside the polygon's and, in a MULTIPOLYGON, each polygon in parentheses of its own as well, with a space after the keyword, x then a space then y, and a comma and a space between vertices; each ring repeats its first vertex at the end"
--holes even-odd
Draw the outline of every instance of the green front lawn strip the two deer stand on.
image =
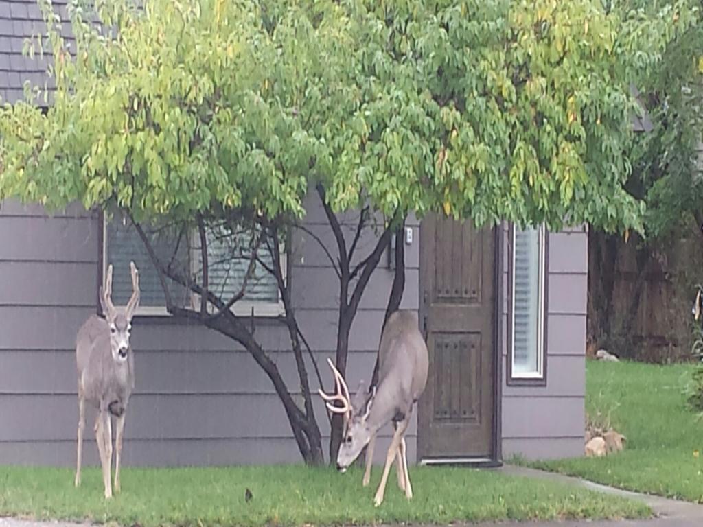
POLYGON ((97 469, 73 487, 70 469, 0 467, 0 516, 115 521, 124 526, 307 526, 449 523, 506 519, 643 517, 644 505, 549 481, 486 470, 411 467, 408 502, 391 474, 375 509, 380 479, 361 486, 361 472, 304 467, 125 469, 122 493, 103 500, 97 469), (245 502, 245 489, 253 494, 245 502))

